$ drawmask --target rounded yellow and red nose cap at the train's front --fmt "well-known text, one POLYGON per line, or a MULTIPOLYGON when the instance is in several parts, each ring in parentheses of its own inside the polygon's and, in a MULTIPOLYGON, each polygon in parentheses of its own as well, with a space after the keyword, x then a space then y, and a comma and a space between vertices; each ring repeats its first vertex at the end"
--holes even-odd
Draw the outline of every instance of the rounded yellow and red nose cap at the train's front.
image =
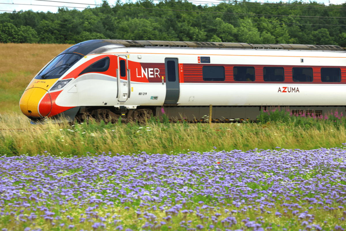
POLYGON ((44 117, 52 110, 52 99, 47 90, 33 87, 24 91, 19 106, 22 113, 28 117, 44 117))

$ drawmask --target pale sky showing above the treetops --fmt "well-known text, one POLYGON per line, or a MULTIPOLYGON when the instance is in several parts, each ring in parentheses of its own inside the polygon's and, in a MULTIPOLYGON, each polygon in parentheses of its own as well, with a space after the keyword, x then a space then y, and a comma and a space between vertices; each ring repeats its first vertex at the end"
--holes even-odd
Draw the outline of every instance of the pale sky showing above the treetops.
MULTIPOLYGON (((125 1, 125 0, 123 0, 125 1)), ((128 0, 129 1, 129 0, 128 0)), ((135 0, 133 0, 135 1, 135 0)), ((188 0, 192 2, 195 5, 211 5, 212 3, 217 5, 220 1, 218 0, 188 0)), ((306 0, 304 0, 306 1, 306 0)), ((345 3, 346 0, 315 0, 319 3, 325 3, 325 5, 331 4, 342 4, 345 3)), ((108 3, 110 5, 115 5, 116 0, 108 0, 108 3)), ((157 0, 154 0, 154 3, 157 3, 157 0)), ((257 0, 257 2, 265 2, 265 0, 257 0)), ((279 0, 268 0, 268 2, 279 2, 279 0)), ((307 1, 308 2, 308 1, 307 1)), ((95 6, 93 4, 101 4, 102 0, 52 0, 52 1, 43 1, 43 0, 0 0, 0 12, 5 12, 4 10, 9 10, 12 12, 13 10, 19 11, 19 10, 33 10, 33 11, 51 11, 53 13, 56 13, 58 10, 58 7, 69 7, 69 9, 73 9, 74 7, 78 10, 83 10, 83 8, 86 8, 90 6, 91 8, 94 8, 95 6), (56 2, 54 2, 56 1, 56 2), (79 3, 79 4, 76 4, 79 3), (19 5, 19 4, 25 4, 25 5, 19 5), (41 5, 41 6, 35 6, 35 5, 41 5), (70 8, 71 7, 71 8, 70 8)))

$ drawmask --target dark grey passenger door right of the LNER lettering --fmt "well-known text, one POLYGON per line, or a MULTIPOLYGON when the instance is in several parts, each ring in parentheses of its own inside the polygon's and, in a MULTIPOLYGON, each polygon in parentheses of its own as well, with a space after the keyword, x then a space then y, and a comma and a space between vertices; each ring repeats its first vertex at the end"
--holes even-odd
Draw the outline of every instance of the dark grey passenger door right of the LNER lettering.
POLYGON ((165 58, 166 98, 164 104, 176 104, 179 99, 179 69, 178 59, 165 58))

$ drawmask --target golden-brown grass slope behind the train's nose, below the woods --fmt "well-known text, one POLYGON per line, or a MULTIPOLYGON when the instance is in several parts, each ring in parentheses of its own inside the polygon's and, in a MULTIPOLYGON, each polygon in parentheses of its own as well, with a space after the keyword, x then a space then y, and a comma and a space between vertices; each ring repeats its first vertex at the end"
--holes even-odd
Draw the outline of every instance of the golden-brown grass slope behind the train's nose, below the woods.
POLYGON ((29 82, 71 44, 0 43, 0 112, 17 112, 29 82))

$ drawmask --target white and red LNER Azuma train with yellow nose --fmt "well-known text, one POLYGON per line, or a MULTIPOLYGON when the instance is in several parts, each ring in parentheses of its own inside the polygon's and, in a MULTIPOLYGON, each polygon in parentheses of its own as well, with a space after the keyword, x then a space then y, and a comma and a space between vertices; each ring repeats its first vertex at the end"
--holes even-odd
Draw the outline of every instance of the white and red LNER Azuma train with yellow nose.
POLYGON ((335 45, 97 39, 71 46, 25 89, 32 123, 89 115, 136 120, 256 120, 266 106, 344 112, 346 53, 335 45), (162 110, 163 108, 163 110, 162 110))

